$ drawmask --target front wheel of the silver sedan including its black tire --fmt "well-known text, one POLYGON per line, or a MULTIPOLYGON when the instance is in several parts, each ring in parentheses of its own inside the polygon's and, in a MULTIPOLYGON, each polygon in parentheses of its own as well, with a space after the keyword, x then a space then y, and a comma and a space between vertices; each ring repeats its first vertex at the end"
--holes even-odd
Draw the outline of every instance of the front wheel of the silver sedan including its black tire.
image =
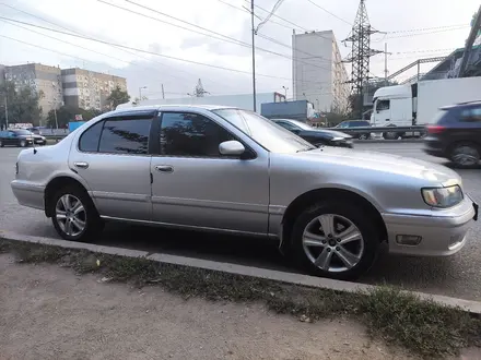
MULTIPOLYGON (((344 239, 347 240, 347 237, 344 239)), ((307 208, 297 217, 291 240, 296 263, 308 273, 320 277, 350 280, 359 278, 372 266, 378 253, 380 235, 374 217, 365 208, 327 201, 307 208), (333 233, 324 233, 319 218, 324 221, 329 218, 333 219, 333 233), (359 240, 342 244, 340 240, 342 237, 337 238, 337 236, 348 228, 353 230, 352 233, 357 231, 360 237, 357 237, 359 240), (307 233, 310 238, 305 237, 307 233), (315 244, 305 241, 313 241, 315 244), (325 255, 330 256, 329 266, 322 268, 314 263, 316 259, 320 261, 325 255), (344 256, 348 262, 342 261, 341 256, 344 256)))

